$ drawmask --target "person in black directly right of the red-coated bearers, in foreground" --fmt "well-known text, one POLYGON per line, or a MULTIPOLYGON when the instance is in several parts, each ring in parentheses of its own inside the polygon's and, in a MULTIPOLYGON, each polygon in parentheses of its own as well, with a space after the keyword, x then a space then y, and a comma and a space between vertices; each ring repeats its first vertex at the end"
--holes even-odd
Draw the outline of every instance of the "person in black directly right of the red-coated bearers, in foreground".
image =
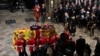
POLYGON ((66 34, 62 33, 60 35, 60 38, 57 40, 56 47, 55 47, 56 56, 65 55, 66 39, 67 39, 66 34))

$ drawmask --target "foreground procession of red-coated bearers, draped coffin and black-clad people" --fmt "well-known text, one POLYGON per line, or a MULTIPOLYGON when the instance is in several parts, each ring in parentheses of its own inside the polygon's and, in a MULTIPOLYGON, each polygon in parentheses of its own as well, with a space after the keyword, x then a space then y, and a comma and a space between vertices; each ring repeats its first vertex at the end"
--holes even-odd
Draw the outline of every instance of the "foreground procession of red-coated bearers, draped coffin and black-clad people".
MULTIPOLYGON (((82 35, 76 41, 68 30, 64 30, 60 36, 53 25, 32 25, 29 35, 22 31, 14 34, 14 47, 19 56, 91 56, 91 47, 82 35), (25 38, 25 37, 28 38, 25 38), (28 49, 26 49, 26 47, 28 49), (27 53, 29 51, 29 53, 27 53), (76 52, 76 53, 75 53, 76 52)), ((98 37, 94 56, 100 56, 100 39, 98 37)))

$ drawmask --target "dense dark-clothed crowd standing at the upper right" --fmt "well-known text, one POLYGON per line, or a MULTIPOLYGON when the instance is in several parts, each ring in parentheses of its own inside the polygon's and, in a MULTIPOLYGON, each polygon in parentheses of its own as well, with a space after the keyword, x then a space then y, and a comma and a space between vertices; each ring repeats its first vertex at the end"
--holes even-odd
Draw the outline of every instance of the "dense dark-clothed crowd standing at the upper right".
POLYGON ((56 23, 68 24, 71 33, 75 32, 76 26, 90 31, 94 35, 94 29, 100 29, 100 1, 99 0, 69 0, 61 2, 58 8, 54 9, 54 20, 56 23), (73 20, 74 19, 74 20, 73 20))

